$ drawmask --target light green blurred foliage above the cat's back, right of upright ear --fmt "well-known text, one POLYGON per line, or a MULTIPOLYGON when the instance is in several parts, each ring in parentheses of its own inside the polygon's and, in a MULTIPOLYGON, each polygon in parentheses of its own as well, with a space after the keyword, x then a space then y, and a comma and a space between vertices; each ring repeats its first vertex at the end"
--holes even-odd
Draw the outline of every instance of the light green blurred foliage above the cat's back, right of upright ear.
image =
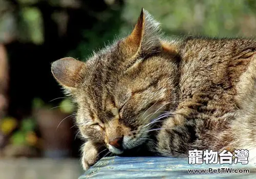
MULTIPOLYGON (((253 0, 127 0, 123 18, 134 24, 141 7, 149 11, 168 34, 255 36, 256 1, 253 0)), ((127 26, 123 31, 127 31, 127 26)))

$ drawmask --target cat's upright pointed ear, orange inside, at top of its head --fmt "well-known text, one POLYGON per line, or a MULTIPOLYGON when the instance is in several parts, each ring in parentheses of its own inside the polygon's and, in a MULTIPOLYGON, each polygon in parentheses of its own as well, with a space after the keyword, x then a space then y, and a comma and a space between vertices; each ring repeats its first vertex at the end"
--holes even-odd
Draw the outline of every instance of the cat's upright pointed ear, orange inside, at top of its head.
POLYGON ((133 32, 123 41, 125 51, 132 56, 155 53, 161 48, 159 36, 159 23, 142 9, 133 32))

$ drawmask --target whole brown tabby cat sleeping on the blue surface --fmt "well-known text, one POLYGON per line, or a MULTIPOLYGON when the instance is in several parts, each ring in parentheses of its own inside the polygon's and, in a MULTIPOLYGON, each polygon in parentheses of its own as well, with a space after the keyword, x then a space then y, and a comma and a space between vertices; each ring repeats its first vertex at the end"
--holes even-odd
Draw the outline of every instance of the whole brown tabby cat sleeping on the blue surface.
MULTIPOLYGON (((142 10, 128 37, 52 73, 77 103, 86 170, 106 153, 256 152, 256 41, 163 37, 142 10)), ((254 156, 253 156, 254 154, 254 156)))

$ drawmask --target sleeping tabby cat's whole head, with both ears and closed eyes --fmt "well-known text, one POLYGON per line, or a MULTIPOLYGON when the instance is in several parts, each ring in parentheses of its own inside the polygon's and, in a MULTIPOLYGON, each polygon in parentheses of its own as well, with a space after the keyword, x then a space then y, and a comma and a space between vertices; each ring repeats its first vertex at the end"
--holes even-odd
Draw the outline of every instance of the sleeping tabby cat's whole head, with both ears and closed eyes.
POLYGON ((142 10, 130 36, 86 62, 57 60, 52 73, 78 105, 82 136, 120 154, 146 141, 160 115, 174 107, 177 58, 175 47, 160 40, 159 24, 142 10))

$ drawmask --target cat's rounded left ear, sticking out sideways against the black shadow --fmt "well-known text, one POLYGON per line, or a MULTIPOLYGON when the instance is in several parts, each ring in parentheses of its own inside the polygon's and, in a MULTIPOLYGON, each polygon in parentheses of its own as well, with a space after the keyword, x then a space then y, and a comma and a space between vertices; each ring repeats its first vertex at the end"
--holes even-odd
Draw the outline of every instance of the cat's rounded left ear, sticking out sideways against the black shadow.
POLYGON ((81 70, 86 63, 78 61, 71 57, 61 58, 52 63, 52 74, 55 79, 65 88, 76 88, 81 83, 81 70))

